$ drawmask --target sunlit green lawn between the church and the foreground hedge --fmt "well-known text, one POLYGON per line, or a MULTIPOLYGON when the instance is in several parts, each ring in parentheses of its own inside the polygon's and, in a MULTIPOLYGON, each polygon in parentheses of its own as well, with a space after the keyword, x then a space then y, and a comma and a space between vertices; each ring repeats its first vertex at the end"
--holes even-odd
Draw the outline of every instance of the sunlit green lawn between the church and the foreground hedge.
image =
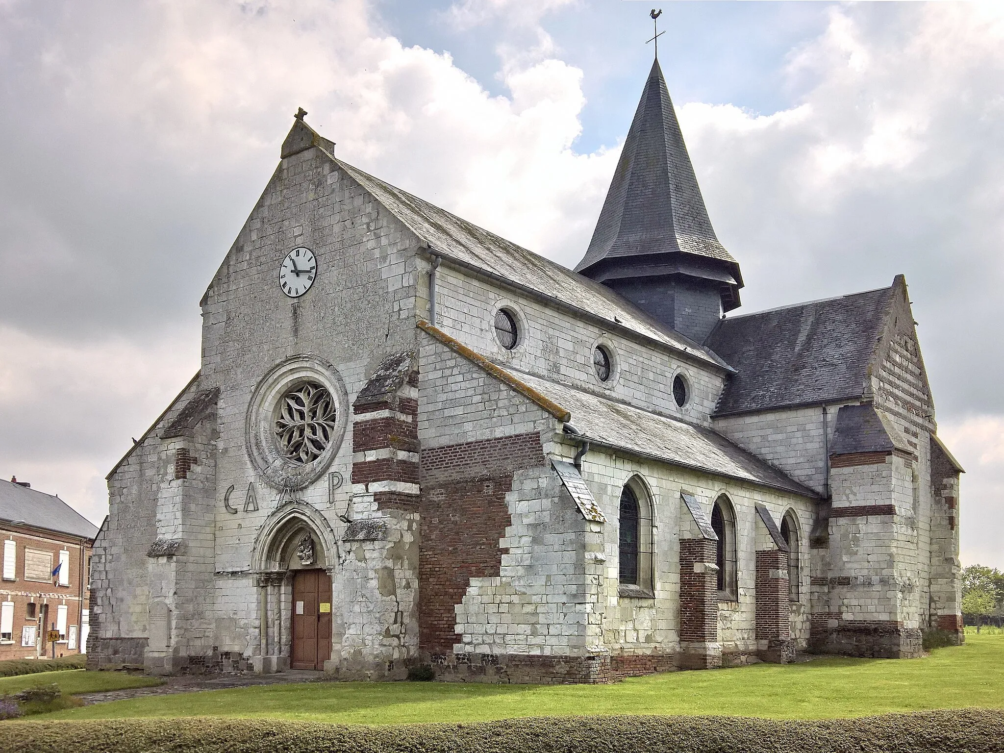
POLYGON ((774 719, 1004 708, 1004 636, 915 660, 818 659, 675 672, 605 686, 309 683, 115 701, 38 719, 220 716, 343 724, 471 722, 596 714, 716 714, 774 719))

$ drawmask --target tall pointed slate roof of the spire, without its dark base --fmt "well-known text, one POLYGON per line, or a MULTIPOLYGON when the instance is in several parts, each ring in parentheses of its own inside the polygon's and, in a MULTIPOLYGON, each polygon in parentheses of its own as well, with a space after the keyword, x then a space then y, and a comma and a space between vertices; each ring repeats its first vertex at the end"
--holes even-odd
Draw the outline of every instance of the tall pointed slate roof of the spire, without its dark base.
POLYGON ((615 257, 685 253, 739 267, 711 226, 659 60, 652 65, 589 248, 575 271, 615 257))

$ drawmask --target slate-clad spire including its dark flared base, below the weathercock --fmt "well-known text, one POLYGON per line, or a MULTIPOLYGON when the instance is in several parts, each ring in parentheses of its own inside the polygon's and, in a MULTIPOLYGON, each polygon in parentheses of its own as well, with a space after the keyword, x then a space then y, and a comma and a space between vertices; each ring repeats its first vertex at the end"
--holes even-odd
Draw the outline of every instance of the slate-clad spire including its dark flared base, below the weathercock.
POLYGON ((739 305, 739 264, 711 226, 659 60, 575 271, 697 340, 739 305))

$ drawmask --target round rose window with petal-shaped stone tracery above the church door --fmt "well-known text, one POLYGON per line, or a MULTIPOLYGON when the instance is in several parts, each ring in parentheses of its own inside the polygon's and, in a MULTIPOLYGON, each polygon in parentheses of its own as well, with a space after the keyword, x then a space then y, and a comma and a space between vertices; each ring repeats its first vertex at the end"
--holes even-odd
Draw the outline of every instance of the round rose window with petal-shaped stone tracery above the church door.
POLYGON ((334 399, 317 383, 301 383, 279 401, 275 436, 280 452, 294 463, 317 460, 331 443, 335 429, 334 399))

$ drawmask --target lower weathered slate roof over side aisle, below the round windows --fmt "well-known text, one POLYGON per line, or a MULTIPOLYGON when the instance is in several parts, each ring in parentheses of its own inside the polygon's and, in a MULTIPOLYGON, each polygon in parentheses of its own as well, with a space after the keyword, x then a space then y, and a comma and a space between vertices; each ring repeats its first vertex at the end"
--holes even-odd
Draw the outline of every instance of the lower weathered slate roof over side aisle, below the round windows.
POLYGON ((811 489, 710 429, 615 403, 512 368, 504 370, 565 408, 571 414, 567 423, 593 442, 685 468, 806 497, 818 497, 811 489))

